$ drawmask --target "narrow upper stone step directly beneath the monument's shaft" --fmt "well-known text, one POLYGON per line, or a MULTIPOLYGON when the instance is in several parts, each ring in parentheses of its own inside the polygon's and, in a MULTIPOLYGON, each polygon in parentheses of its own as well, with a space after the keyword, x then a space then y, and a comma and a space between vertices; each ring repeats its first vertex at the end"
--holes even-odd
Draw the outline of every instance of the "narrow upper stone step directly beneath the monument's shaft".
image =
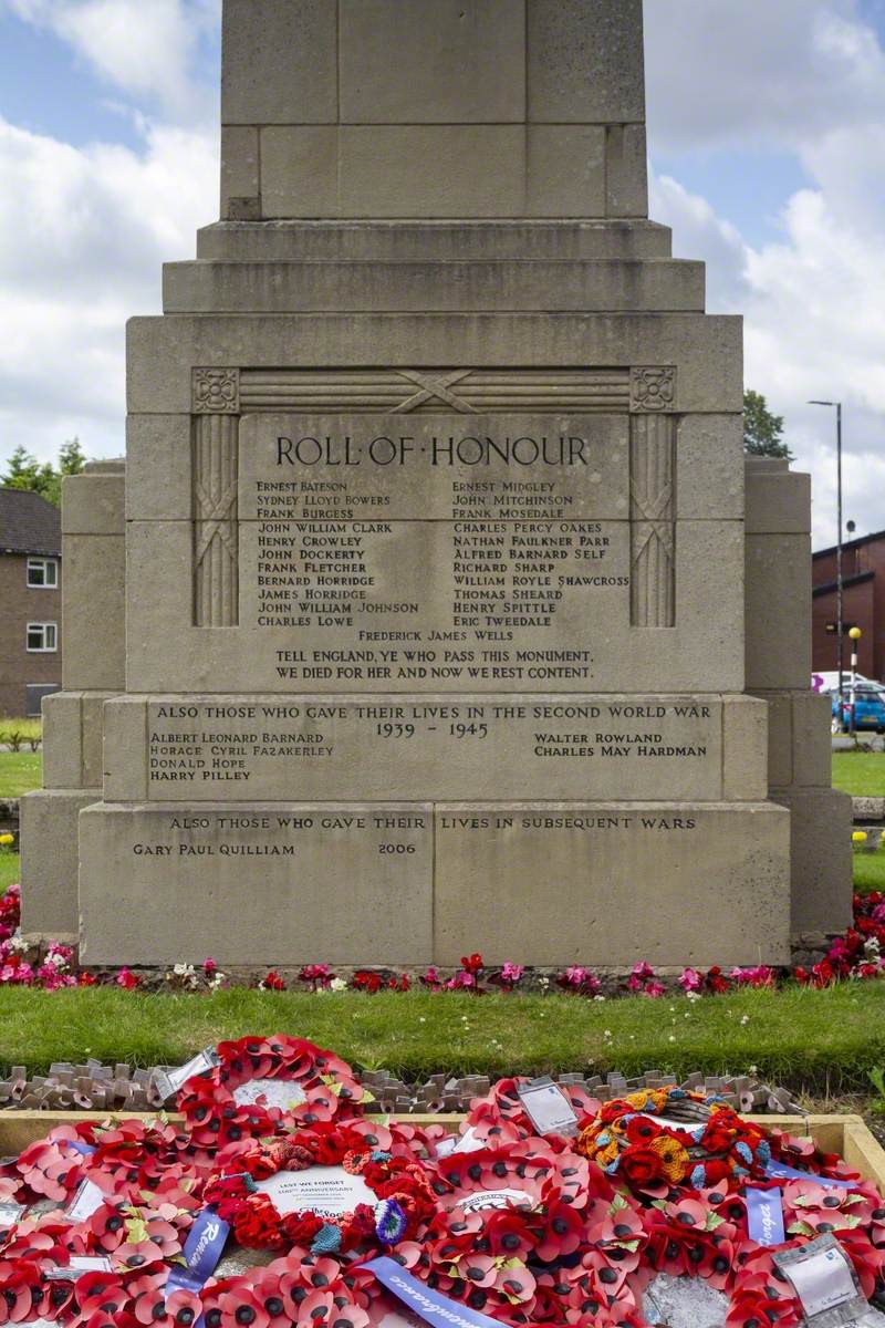
POLYGON ((446 262, 670 258, 667 226, 610 222, 216 222, 196 234, 214 262, 446 262))

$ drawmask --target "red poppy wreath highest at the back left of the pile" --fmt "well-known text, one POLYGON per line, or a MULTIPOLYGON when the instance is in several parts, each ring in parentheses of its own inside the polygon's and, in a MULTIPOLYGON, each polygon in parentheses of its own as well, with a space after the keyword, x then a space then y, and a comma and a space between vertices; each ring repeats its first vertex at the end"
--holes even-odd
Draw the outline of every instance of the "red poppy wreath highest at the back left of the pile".
POLYGON ((374 1101, 346 1061, 303 1037, 241 1037, 220 1042, 219 1064, 187 1080, 178 1110, 190 1141, 216 1150, 244 1138, 361 1114, 374 1101), (247 1085, 273 1080, 293 1086, 293 1104, 280 1108, 260 1096, 247 1100, 247 1085))

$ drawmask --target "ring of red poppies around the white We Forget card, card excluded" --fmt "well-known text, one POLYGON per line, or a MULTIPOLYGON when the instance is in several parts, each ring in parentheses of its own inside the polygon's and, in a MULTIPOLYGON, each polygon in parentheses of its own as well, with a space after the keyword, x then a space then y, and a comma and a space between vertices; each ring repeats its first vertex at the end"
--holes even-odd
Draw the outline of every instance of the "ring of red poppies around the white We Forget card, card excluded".
POLYGON ((301 1248, 313 1255, 349 1255, 390 1248, 414 1236, 435 1211, 425 1167, 409 1142, 370 1122, 321 1122, 285 1138, 238 1151, 211 1177, 203 1201, 230 1222, 239 1244, 253 1250, 301 1248), (391 1151, 398 1149, 398 1155, 391 1151), (256 1182, 281 1171, 341 1166, 358 1175, 375 1195, 353 1212, 324 1216, 312 1210, 281 1214, 256 1182))

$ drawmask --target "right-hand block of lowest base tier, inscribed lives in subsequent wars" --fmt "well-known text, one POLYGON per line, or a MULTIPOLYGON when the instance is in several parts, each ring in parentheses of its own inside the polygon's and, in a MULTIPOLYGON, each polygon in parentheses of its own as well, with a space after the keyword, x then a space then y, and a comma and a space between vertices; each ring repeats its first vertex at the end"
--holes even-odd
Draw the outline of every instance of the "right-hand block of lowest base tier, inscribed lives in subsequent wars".
POLYGON ((435 862, 443 964, 464 947, 490 963, 789 959, 789 817, 771 803, 439 806, 435 862))

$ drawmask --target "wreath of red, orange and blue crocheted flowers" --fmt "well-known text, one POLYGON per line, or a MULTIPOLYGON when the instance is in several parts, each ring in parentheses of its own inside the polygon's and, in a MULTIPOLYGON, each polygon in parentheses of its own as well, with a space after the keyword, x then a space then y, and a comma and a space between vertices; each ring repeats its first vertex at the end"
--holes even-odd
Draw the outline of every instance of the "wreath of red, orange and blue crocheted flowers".
POLYGON ((606 1102, 576 1149, 634 1191, 654 1194, 658 1187, 657 1197, 673 1186, 703 1190, 762 1178, 772 1159, 762 1129, 715 1098, 678 1088, 642 1089, 606 1102), (654 1118, 686 1108, 699 1120, 681 1126, 654 1118))

